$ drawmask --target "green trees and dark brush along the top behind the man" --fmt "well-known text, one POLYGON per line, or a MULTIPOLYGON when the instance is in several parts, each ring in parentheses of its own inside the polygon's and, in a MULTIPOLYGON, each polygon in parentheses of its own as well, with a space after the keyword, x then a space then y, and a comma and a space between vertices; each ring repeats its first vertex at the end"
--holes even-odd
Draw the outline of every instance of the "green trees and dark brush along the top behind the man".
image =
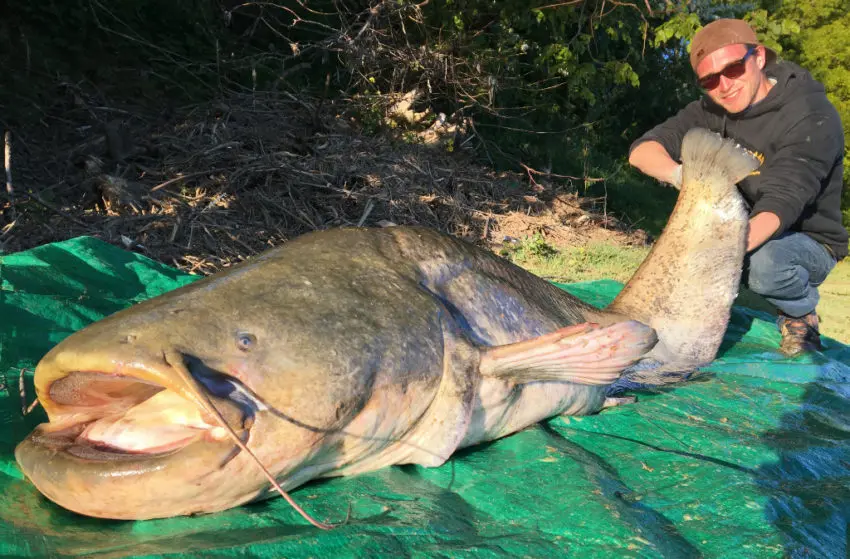
MULTIPOLYGON (((646 214, 674 194, 629 169, 628 146, 700 95, 688 42, 718 17, 809 69, 850 130, 850 0, 19 1, 0 19, 0 103, 38 107, 81 79, 149 99, 311 88, 380 124, 415 91, 430 116, 411 126, 443 113, 496 166, 577 177, 646 214)), ((848 189, 843 207, 850 225, 848 189)))

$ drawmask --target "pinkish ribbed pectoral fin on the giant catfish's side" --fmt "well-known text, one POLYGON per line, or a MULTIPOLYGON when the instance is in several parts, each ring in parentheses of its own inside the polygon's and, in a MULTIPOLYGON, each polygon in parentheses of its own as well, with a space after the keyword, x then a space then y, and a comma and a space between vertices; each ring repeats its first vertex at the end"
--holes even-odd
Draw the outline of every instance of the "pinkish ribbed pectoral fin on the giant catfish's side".
POLYGON ((634 320, 600 328, 584 323, 550 334, 482 350, 480 371, 516 383, 563 381, 611 384, 643 357, 658 338, 655 330, 634 320))

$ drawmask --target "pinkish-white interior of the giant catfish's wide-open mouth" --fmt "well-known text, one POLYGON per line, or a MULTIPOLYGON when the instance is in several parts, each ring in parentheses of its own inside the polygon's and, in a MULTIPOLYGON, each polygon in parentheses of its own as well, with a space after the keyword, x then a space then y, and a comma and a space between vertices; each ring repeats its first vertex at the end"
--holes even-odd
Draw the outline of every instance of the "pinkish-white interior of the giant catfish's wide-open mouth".
MULTIPOLYGON (((230 439, 194 402, 138 377, 74 371, 51 382, 41 398, 49 402, 50 422, 39 426, 32 442, 87 460, 162 456, 195 442, 230 439)), ((239 406, 213 399, 234 429, 250 428, 239 406)))

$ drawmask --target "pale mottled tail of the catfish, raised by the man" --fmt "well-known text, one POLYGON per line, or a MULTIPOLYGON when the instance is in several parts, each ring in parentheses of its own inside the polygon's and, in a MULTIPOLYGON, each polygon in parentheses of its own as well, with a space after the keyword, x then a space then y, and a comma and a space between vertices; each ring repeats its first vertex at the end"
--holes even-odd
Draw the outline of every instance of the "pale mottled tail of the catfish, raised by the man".
POLYGON ((658 344, 621 381, 669 384, 717 355, 738 292, 748 212, 736 183, 754 155, 701 128, 682 141, 682 188, 649 256, 608 307, 655 329, 658 344))

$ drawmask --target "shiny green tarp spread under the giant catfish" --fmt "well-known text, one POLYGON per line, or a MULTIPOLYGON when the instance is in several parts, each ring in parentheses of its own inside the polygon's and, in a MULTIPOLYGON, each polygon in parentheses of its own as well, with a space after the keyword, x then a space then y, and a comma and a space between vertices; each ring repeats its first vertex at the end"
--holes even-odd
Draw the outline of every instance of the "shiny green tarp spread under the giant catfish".
MULTIPOLYGON (((845 557, 850 521, 850 347, 787 360, 770 317, 735 308, 705 374, 638 403, 553 418, 457 453, 145 522, 76 515, 14 461, 45 420, 21 413, 38 359, 71 332, 196 279, 92 238, 2 258, 0 556, 845 557)), ((598 305, 620 284, 564 286, 598 305)))

